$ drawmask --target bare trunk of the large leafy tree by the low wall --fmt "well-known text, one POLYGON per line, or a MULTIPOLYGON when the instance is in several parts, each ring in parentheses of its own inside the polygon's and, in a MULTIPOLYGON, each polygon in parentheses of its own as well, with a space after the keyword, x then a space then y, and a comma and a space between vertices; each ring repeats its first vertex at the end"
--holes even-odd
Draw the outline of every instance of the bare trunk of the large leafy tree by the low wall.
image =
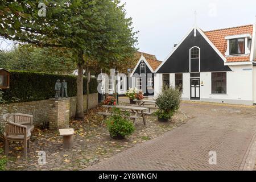
POLYGON ((84 106, 83 104, 83 71, 84 63, 77 64, 78 76, 77 76, 77 102, 76 102, 76 119, 84 121, 84 106))

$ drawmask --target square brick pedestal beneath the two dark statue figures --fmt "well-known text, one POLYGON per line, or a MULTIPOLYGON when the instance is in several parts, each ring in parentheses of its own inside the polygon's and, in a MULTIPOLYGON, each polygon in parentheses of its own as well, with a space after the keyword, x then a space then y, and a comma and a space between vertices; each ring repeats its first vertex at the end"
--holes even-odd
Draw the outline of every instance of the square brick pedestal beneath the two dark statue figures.
POLYGON ((69 127, 70 98, 50 98, 49 129, 58 130, 69 127))

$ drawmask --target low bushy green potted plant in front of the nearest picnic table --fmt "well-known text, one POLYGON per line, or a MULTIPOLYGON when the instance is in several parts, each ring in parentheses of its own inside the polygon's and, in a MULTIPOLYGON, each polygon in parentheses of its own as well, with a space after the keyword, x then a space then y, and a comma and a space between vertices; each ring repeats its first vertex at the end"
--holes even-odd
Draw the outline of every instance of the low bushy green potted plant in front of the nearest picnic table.
POLYGON ((121 113, 119 109, 113 109, 113 115, 106 120, 106 126, 111 138, 124 139, 134 132, 135 127, 128 117, 129 113, 121 113))

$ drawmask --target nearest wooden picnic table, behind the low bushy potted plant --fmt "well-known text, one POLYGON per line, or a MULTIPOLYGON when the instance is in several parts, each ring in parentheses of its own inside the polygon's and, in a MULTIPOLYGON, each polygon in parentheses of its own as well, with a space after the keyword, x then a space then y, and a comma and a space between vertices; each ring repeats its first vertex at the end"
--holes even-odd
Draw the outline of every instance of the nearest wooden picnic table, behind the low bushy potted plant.
POLYGON ((110 113, 110 109, 113 107, 121 109, 122 111, 131 111, 134 115, 131 115, 130 118, 133 119, 133 122, 135 122, 136 119, 141 118, 143 119, 144 125, 146 125, 146 113, 144 112, 147 110, 147 107, 138 107, 138 106, 125 106, 125 105, 116 105, 116 106, 111 106, 111 105, 104 105, 103 107, 106 107, 106 112, 105 113, 98 113, 104 116, 104 119, 102 120, 101 125, 103 125, 103 122, 107 116, 112 115, 113 113, 110 113), (141 116, 139 116, 141 114, 141 116))

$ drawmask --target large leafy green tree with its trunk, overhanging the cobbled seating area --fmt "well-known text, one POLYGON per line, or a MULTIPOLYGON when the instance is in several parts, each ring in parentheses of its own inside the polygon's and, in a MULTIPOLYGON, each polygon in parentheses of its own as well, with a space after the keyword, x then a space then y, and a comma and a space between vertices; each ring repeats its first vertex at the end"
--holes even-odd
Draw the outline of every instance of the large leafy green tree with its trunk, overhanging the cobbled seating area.
POLYGON ((135 51, 136 32, 119 4, 119 0, 2 0, 0 36, 42 47, 72 49, 79 73, 76 118, 84 119, 85 62, 97 60, 108 65, 135 51))

